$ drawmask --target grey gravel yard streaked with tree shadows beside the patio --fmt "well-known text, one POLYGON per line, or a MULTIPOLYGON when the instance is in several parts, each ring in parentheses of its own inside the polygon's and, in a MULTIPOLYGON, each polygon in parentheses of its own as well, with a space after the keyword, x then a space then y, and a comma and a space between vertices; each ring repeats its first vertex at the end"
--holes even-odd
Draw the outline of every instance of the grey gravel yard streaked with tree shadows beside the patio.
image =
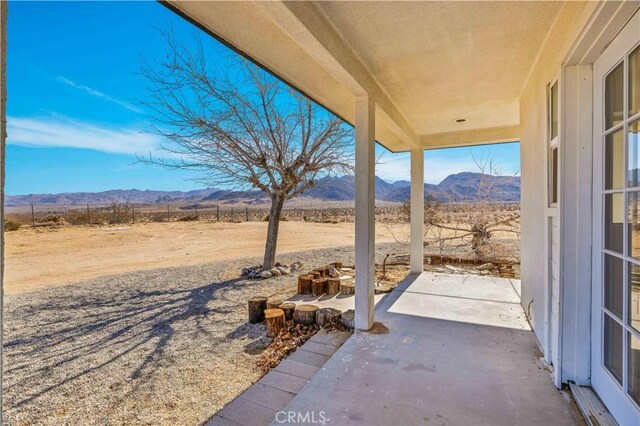
MULTIPOLYGON (((376 259, 405 252, 376 246, 376 259)), ((353 262, 353 247, 289 253, 303 270, 353 262)), ((201 424, 261 376, 268 342, 246 322, 253 296, 286 298, 295 276, 238 278, 260 259, 100 277, 9 295, 4 421, 27 424, 201 424)), ((55 274, 55 271, 52 271, 55 274)))

